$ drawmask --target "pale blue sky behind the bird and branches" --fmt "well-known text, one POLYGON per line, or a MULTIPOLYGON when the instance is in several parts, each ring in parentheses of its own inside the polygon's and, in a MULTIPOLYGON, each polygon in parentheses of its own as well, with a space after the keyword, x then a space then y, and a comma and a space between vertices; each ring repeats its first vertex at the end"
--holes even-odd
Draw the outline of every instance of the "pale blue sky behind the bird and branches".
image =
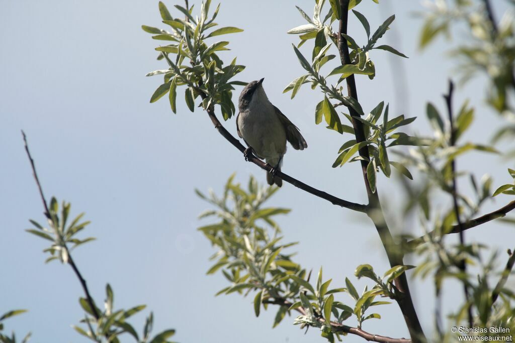
MULTIPOLYGON (((171 9, 176 2, 165 3, 171 9)), ((77 299, 83 296, 72 269, 55 262, 45 265, 41 250, 46 243, 24 231, 28 219, 43 222, 44 218, 23 150, 23 129, 46 196, 71 201, 74 214, 84 211, 92 221, 86 234, 98 240, 78 248, 74 258, 97 302, 104 299, 109 282, 116 306, 146 303, 155 314, 155 329, 175 328, 176 340, 183 343, 322 341, 316 330, 304 336, 291 325, 292 317, 272 330, 275 312, 262 312, 255 318, 250 297, 213 296, 226 281, 221 275, 205 275, 214 250, 196 228, 205 223, 197 215, 209 206, 195 195, 194 188, 213 187, 219 192, 233 172, 242 183, 249 174, 265 182, 265 174, 246 163, 199 109, 192 114, 178 101, 174 115, 166 99, 148 103, 162 79, 144 75, 165 64, 156 61, 153 51, 160 42, 151 40, 140 26, 164 26, 157 5, 157 1, 141 0, 0 3, 0 312, 30 310, 6 321, 7 330, 14 329, 18 336, 32 331, 33 342, 85 341, 70 328, 82 318, 77 299)), ((311 13, 313 1, 224 1, 217 22, 245 31, 228 35, 232 50, 220 56, 227 60, 237 56, 238 63, 247 66, 242 80, 265 77, 270 100, 301 129, 309 148, 302 152, 290 148, 284 171, 314 187, 365 203, 359 167, 331 168, 347 137, 315 125, 320 93, 305 87, 293 101, 289 94, 282 94, 284 86, 303 72, 291 48, 298 39, 285 33, 303 24, 295 5, 311 13)), ((393 27, 402 45, 395 47, 410 57, 398 58, 406 70, 409 93, 404 102, 395 103, 396 81, 388 52, 373 51, 376 78, 357 78, 362 106, 370 111, 382 100, 390 102, 391 115, 403 110, 408 117, 418 116, 413 130, 427 133, 426 101, 443 108, 441 94, 453 67, 444 58, 445 42, 438 41, 423 53, 417 51, 421 21, 411 12, 421 9, 418 1, 375 5, 364 0, 357 9, 373 29, 396 13, 393 27)), ((364 31, 351 17, 349 32, 359 41, 364 31)), ((389 39, 387 32, 384 42, 389 39)), ((310 44, 305 46, 303 51, 309 51, 310 44)), ((499 125, 484 106, 484 90, 484 79, 476 79, 456 95, 456 107, 466 98, 478 106, 476 121, 465 137, 476 142, 488 142, 499 125)), ((225 125, 235 134, 234 118, 225 125)), ((506 167, 498 157, 485 155, 458 161, 458 168, 471 168, 478 176, 492 174, 494 185, 509 182, 506 167), (484 159, 478 162, 478 157, 484 159)), ((397 213, 402 195, 395 185, 394 180, 379 179, 379 192, 390 215, 397 213)), ((485 210, 508 201, 501 195, 485 210)), ((323 265, 324 276, 333 278, 333 285, 342 286, 346 276, 354 280, 354 269, 361 263, 372 264, 380 273, 388 268, 375 229, 363 215, 289 184, 270 205, 293 209, 279 220, 285 241, 301 242, 294 248, 297 261, 308 269, 323 265)), ((515 241, 513 231, 497 223, 470 230, 466 236, 503 250, 513 248, 515 241)), ((365 280, 356 283, 359 289, 367 284, 365 280)), ((411 287, 430 333, 432 288, 419 281, 412 281, 411 287)), ((452 299, 461 296, 459 290, 454 291, 451 288, 445 294, 449 308, 452 299)), ((350 303, 345 295, 342 299, 350 303)), ((365 330, 407 336, 396 305, 383 306, 379 313, 384 319, 367 321, 365 330)), ((133 322, 141 330, 143 316, 133 322)), ((347 337, 346 341, 363 340, 347 337)))

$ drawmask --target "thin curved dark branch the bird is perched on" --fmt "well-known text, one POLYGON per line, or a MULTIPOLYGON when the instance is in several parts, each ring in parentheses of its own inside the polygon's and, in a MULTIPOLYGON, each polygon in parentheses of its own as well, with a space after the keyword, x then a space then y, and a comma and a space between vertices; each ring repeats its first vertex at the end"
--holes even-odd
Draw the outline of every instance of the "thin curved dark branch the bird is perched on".
MULTIPOLYGON (((200 93, 200 96, 203 99, 206 97, 206 95, 203 93, 200 93)), ((231 133, 229 131, 227 131, 226 128, 224 128, 224 125, 222 125, 220 123, 220 121, 218 120, 218 118, 216 117, 213 108, 210 107, 207 110, 207 112, 208 112, 209 118, 211 119, 211 122, 213 123, 215 129, 218 130, 218 132, 222 136, 224 136, 225 139, 227 139, 234 147, 236 147, 236 149, 238 149, 243 154, 243 152, 245 151, 245 147, 242 145, 241 142, 239 142, 238 139, 236 139, 233 135, 231 135, 231 133)), ((256 166, 260 167, 263 170, 266 170, 267 172, 270 172, 272 170, 272 167, 270 165, 264 163, 261 159, 259 159, 258 157, 255 157, 254 155, 249 155, 248 160, 249 160, 249 162, 252 162, 256 166)), ((333 205, 345 207, 345 208, 348 208, 348 209, 351 209, 354 211, 358 211, 358 212, 363 212, 363 213, 366 213, 368 211, 367 205, 356 204, 356 203, 353 203, 353 202, 350 202, 347 200, 340 199, 339 197, 336 197, 334 195, 331 195, 329 193, 326 193, 324 191, 321 191, 319 189, 311 187, 310 185, 306 185, 305 183, 299 181, 298 179, 293 178, 281 171, 277 171, 276 176, 279 176, 284 181, 294 185, 297 188, 300 188, 308 193, 311 193, 313 195, 316 195, 322 199, 329 201, 333 205)))

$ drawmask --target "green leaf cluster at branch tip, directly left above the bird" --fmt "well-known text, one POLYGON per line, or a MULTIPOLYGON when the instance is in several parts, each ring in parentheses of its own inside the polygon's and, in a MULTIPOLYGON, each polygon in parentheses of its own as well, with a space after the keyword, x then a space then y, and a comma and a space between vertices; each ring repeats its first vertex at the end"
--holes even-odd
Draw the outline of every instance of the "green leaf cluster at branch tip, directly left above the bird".
POLYGON ((213 37, 228 33, 241 32, 236 27, 221 27, 212 30, 218 24, 214 22, 220 5, 212 15, 209 10, 211 0, 201 4, 200 17, 193 17, 193 8, 186 9, 175 5, 175 8, 184 15, 174 18, 166 6, 159 2, 159 11, 163 23, 170 26, 168 30, 143 25, 142 29, 154 34, 152 39, 167 41, 169 44, 156 48, 160 52, 158 59, 165 59, 168 69, 154 70, 147 76, 163 75, 164 82, 152 94, 150 102, 159 100, 168 94, 171 110, 177 112, 177 87, 185 86, 184 100, 191 112, 195 110, 195 101, 200 97, 200 106, 204 110, 220 105, 225 120, 232 117, 235 107, 232 102, 232 91, 235 85, 246 85, 246 82, 231 80, 245 68, 237 65, 233 59, 229 65, 218 57, 220 51, 229 50, 229 42, 216 41, 209 43, 213 37), (175 55, 175 58, 170 58, 175 55))

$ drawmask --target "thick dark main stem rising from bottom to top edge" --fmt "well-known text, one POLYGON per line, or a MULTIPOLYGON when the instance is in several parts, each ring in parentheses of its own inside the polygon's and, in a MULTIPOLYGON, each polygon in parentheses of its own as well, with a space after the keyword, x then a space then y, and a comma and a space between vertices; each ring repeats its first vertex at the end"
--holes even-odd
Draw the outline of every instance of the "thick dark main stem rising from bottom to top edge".
MULTIPOLYGON (((347 40, 344 38, 344 36, 341 35, 342 33, 347 34, 349 0, 339 0, 339 3, 341 9, 341 17, 339 21, 338 30, 338 50, 340 53, 341 64, 345 65, 351 64, 347 40)), ((346 82, 348 95, 357 100, 357 89, 354 75, 350 75, 349 77, 347 77, 346 82)), ((354 111, 352 107, 349 107, 349 111, 352 117, 359 116, 359 114, 356 111, 354 111)), ((352 125, 354 127, 356 142, 364 141, 365 130, 363 129, 363 123, 353 118, 352 125)), ((383 246, 385 247, 386 255, 388 257, 388 262, 390 263, 390 266, 393 267, 396 265, 403 265, 404 254, 401 250, 401 247, 393 241, 390 230, 384 218, 381 203, 379 201, 379 195, 377 195, 377 190, 375 192, 372 192, 370 184, 368 182, 367 162, 370 159, 368 148, 364 147, 360 149, 359 155, 364 158, 361 160, 361 167, 363 178, 365 181, 365 188, 367 190, 369 200, 370 210, 368 212, 368 215, 370 219, 373 221, 377 233, 379 234, 383 246)), ((409 293, 406 275, 403 273, 401 276, 395 279, 394 283, 400 292, 399 299, 397 299, 397 303, 399 304, 399 308, 401 309, 401 312, 404 316, 404 321, 406 322, 406 326, 409 330, 409 335, 411 336, 413 343, 426 342, 427 340, 422 330, 422 326, 420 325, 417 312, 415 311, 413 300, 411 299, 411 295, 409 293)))

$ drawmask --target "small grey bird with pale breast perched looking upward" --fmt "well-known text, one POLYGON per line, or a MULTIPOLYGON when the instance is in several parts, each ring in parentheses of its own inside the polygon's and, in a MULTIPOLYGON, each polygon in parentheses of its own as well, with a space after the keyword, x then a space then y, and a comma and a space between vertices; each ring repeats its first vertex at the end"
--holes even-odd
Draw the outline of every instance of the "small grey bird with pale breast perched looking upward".
POLYGON ((252 81, 243 88, 239 96, 236 130, 249 146, 245 150, 245 158, 252 152, 264 158, 274 169, 272 173, 266 174, 267 183, 281 187, 283 180, 274 174, 281 170, 286 140, 296 150, 304 150, 307 143, 299 129, 268 100, 263 80, 252 81))

